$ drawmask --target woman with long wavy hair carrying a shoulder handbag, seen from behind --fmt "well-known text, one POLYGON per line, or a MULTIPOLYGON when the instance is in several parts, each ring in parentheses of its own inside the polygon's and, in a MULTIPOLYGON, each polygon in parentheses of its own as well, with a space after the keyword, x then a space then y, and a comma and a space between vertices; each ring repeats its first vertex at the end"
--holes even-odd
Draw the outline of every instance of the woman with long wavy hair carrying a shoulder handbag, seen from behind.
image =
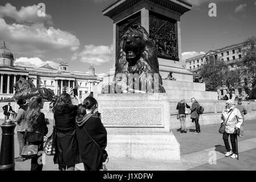
MULTIPOLYGON (((38 145, 38 151, 43 151, 43 140, 48 133, 44 114, 40 111, 41 109, 43 109, 43 98, 41 96, 30 98, 26 117, 28 130, 30 131, 27 142, 38 145)), ((38 163, 38 158, 40 158, 40 155, 31 159, 31 171, 42 171, 43 164, 38 163)))

